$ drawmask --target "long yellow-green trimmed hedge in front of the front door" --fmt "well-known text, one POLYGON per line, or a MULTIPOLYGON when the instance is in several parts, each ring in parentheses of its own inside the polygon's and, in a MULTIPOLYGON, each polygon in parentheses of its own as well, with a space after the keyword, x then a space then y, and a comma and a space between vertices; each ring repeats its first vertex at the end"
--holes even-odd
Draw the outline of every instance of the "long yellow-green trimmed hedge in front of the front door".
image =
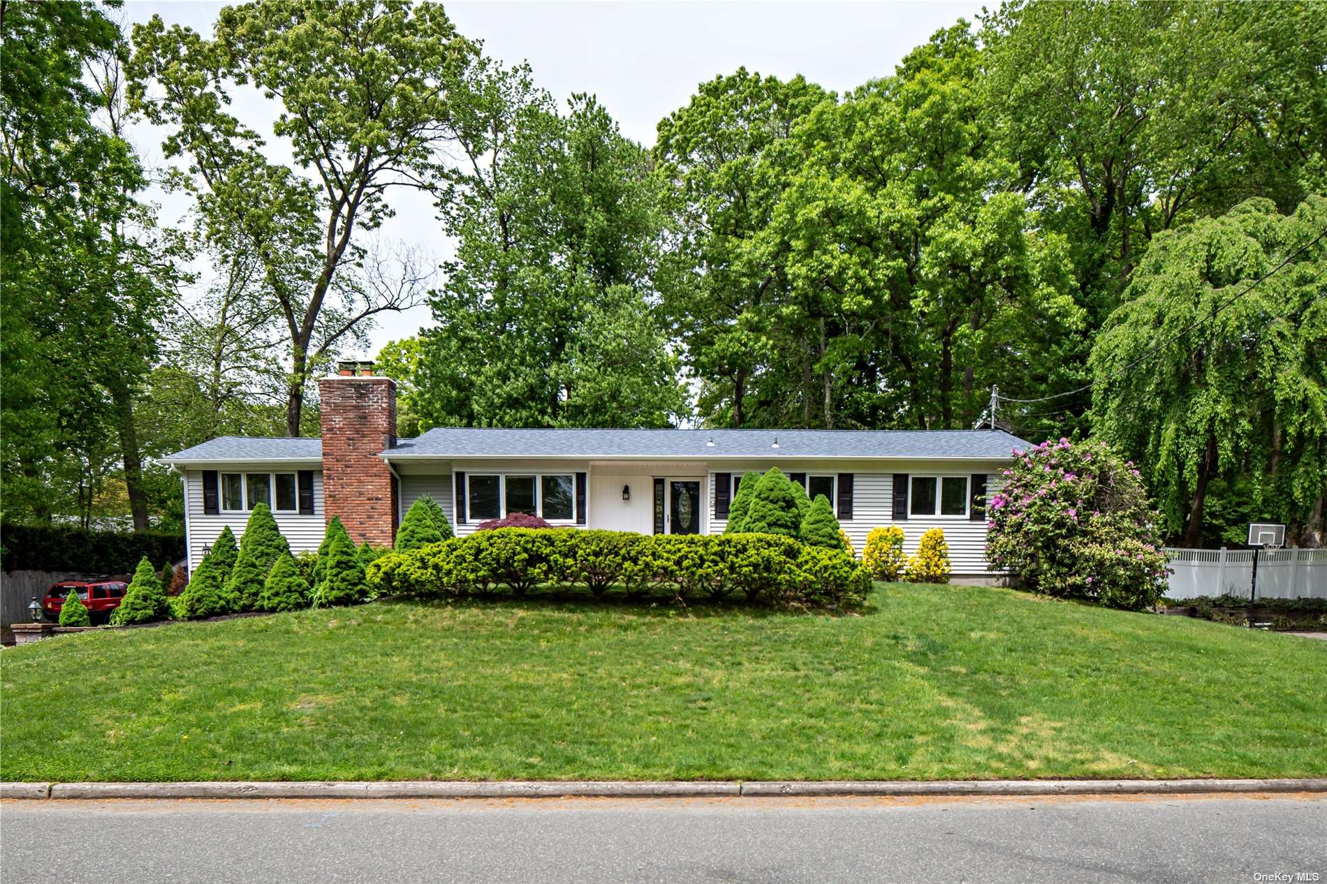
POLYGON ((502 528, 393 552, 368 568, 374 595, 524 595, 539 584, 580 584, 598 597, 742 597, 774 605, 860 604, 867 571, 841 550, 763 534, 657 535, 579 528, 502 528))

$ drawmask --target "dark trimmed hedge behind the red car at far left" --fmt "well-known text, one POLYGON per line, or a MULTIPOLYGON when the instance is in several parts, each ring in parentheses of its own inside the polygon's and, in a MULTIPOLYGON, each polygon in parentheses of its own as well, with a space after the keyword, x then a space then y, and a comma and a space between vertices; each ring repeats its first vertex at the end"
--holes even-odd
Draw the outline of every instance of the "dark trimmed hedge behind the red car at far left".
POLYGON ((86 531, 62 524, 0 526, 5 571, 84 571, 133 573, 143 556, 153 561, 184 557, 184 535, 145 531, 86 531))

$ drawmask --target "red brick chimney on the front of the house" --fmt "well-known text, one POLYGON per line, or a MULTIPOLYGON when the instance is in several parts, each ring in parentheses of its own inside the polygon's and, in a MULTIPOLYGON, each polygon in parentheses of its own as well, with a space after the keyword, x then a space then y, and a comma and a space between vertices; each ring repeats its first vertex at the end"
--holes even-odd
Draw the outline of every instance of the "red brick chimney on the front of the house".
POLYGON ((322 406, 325 518, 341 516, 356 543, 390 547, 397 534, 397 486, 378 457, 397 443, 397 384, 373 362, 340 362, 318 381, 322 406))

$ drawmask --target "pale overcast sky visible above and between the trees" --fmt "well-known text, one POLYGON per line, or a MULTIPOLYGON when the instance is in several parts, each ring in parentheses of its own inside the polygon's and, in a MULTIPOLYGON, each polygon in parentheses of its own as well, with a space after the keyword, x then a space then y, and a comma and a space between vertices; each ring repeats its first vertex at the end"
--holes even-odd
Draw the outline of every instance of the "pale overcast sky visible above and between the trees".
MULTIPOLYGON (((220 3, 130 0, 125 15, 211 32, 220 3)), ((788 78, 803 74, 845 92, 893 73, 894 65, 937 29, 974 20, 979 3, 449 3, 447 13, 484 53, 507 64, 528 61, 535 80, 565 100, 588 92, 617 118, 624 134, 649 146, 660 119, 687 102, 698 82, 739 66, 788 78)), ((256 93, 232 105, 242 122, 271 135, 275 111, 256 93)), ((139 149, 159 163, 159 135, 139 129, 139 149)), ((273 157, 276 158, 276 157, 273 157)), ((162 198, 163 220, 182 203, 162 198)), ((397 216, 381 236, 419 246, 442 259, 449 246, 427 199, 398 196, 397 216)), ((430 323, 429 309, 387 315, 373 332, 373 352, 430 323)), ((368 356, 372 356, 369 353, 368 356)))

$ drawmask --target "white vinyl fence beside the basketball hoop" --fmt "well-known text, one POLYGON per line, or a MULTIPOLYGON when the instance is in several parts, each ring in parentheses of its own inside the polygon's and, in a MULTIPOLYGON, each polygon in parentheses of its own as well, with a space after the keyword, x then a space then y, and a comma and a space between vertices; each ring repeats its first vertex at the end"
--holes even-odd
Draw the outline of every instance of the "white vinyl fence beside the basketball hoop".
MULTIPOLYGON (((1166 548, 1168 599, 1249 597, 1253 550, 1166 548)), ((1258 551, 1258 599, 1327 599, 1327 550, 1258 551)))

